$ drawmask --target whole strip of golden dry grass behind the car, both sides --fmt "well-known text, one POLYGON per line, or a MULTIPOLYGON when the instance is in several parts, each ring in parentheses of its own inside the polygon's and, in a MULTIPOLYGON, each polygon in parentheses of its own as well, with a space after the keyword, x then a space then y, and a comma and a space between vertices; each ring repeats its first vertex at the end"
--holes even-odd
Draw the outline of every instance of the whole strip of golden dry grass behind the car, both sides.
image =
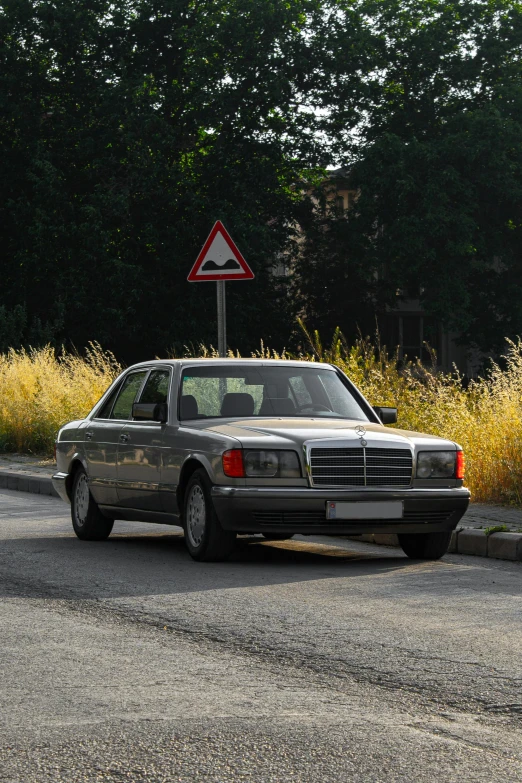
MULTIPOLYGON (((510 342, 505 369, 493 364, 487 377, 465 387, 462 379, 406 363, 367 340, 349 346, 340 332, 324 347, 306 333, 299 357, 263 346, 265 358, 301 358, 336 364, 370 402, 399 409, 401 429, 440 435, 466 453, 474 500, 522 505, 522 342, 510 342)), ((201 347, 202 357, 215 355, 201 347)), ((230 354, 232 356, 232 354, 230 354)), ((0 355, 0 449, 51 454, 56 431, 81 418, 109 386, 121 366, 99 345, 85 357, 51 348, 0 355)))

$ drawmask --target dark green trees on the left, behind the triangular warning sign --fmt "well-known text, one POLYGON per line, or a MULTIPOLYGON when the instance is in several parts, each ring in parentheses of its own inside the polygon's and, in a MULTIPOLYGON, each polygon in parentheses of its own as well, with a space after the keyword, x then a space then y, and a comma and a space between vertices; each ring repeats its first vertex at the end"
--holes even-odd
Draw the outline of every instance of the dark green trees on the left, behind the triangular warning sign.
POLYGON ((0 16, 1 302, 23 339, 130 359, 215 340, 186 275, 214 220, 256 273, 228 286, 230 343, 279 342, 272 266, 315 164, 299 110, 318 0, 9 0, 0 16), (315 16, 314 16, 315 14, 315 16), (36 325, 36 326, 35 326, 36 325))

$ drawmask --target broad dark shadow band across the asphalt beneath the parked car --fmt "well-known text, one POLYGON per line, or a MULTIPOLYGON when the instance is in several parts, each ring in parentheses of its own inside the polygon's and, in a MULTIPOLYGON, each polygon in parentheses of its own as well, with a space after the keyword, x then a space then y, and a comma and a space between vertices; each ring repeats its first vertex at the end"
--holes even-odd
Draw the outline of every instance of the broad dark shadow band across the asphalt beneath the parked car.
POLYGON ((179 528, 118 522, 108 541, 82 542, 63 504, 7 490, 0 495, 0 596, 151 598, 325 580, 354 593, 368 589, 368 577, 376 595, 391 591, 399 601, 410 600, 412 589, 418 600, 458 602, 467 593, 489 600, 492 589, 517 598, 522 591, 522 581, 509 578, 520 573, 519 564, 459 556, 414 561, 398 549, 327 536, 283 542, 245 536, 229 561, 196 563, 179 528))

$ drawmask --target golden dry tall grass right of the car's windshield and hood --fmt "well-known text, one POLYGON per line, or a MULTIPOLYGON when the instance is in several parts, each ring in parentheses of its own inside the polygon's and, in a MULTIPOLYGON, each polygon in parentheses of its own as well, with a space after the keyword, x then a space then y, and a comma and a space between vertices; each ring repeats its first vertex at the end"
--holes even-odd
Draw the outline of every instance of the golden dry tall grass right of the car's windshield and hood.
MULTIPOLYGON (((307 333, 310 355, 340 367, 374 405, 399 409, 403 430, 450 438, 464 449, 473 500, 522 505, 522 341, 508 341, 505 369, 492 362, 486 377, 464 385, 419 362, 398 369, 397 355, 368 340, 346 345, 337 331, 328 348, 307 333)), ((303 357, 304 358, 304 357, 303 357)))

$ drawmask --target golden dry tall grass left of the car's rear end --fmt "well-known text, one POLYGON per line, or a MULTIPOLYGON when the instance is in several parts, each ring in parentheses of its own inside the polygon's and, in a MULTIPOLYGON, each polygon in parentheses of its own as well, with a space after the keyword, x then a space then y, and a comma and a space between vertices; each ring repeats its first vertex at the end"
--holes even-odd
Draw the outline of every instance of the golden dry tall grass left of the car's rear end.
POLYGON ((52 454, 62 424, 83 418, 121 369, 96 343, 84 357, 50 347, 0 354, 0 450, 52 454))

